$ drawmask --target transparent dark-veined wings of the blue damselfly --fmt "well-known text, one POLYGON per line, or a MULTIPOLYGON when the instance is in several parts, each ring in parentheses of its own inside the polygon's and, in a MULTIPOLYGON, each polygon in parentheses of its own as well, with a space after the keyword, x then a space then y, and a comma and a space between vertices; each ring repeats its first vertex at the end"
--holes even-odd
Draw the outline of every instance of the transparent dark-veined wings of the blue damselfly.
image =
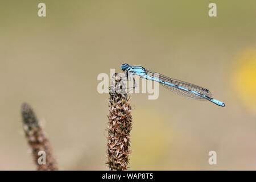
MULTIPOLYGON (((194 84, 189 84, 188 82, 176 80, 174 78, 170 78, 170 77, 164 76, 160 73, 155 73, 155 72, 152 72, 152 71, 149 71, 149 70, 145 70, 145 73, 148 76, 151 76, 151 77, 158 77, 159 80, 167 81, 167 82, 170 82, 171 84, 181 86, 185 89, 193 90, 197 93, 204 94, 205 96, 212 97, 212 94, 210 93, 210 91, 201 87, 201 86, 197 86, 197 85, 194 85, 194 84)), ((186 98, 191 98, 191 99, 194 99, 194 100, 205 100, 203 97, 197 96, 196 94, 193 94, 191 92, 187 92, 185 90, 175 88, 174 86, 165 85, 165 84, 161 84, 161 83, 159 83, 159 84, 164 86, 168 90, 171 90, 172 92, 180 95, 180 96, 183 96, 183 97, 186 97, 186 98)))

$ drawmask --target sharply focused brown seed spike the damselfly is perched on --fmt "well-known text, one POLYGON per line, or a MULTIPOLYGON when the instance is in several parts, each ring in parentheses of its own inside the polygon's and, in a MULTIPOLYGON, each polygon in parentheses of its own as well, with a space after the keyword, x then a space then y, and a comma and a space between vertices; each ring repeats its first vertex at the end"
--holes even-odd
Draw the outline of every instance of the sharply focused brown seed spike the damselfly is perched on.
POLYGON ((129 164, 130 132, 132 128, 130 96, 122 77, 115 73, 109 88, 108 143, 106 155, 112 171, 127 170, 129 164))

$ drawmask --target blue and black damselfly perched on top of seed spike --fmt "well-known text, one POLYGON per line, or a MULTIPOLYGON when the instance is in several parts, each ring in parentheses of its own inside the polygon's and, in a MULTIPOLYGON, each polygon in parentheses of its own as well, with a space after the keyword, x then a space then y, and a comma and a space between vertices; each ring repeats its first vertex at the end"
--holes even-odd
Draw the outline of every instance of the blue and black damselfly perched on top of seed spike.
POLYGON ((127 79, 128 77, 133 79, 134 88, 137 86, 137 84, 135 82, 133 75, 138 75, 142 78, 146 78, 147 80, 157 81, 159 82, 160 85, 163 85, 168 90, 171 90, 172 92, 179 94, 180 96, 191 98, 194 100, 208 100, 210 102, 213 102, 214 104, 217 104, 218 106, 225 106, 223 102, 212 98, 212 94, 210 93, 210 91, 201 86, 176 80, 174 78, 164 76, 160 73, 149 71, 140 66, 122 64, 121 69, 125 72, 127 79))

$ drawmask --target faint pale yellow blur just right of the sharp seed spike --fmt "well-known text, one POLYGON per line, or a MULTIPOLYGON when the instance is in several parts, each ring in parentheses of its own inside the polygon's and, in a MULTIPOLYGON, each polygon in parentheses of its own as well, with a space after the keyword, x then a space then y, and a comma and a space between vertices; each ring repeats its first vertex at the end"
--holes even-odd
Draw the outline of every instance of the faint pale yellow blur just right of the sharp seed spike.
POLYGON ((130 167, 133 170, 158 170, 168 164, 171 134, 163 113, 137 110, 131 131, 130 167), (167 163, 166 163, 167 162, 167 163))

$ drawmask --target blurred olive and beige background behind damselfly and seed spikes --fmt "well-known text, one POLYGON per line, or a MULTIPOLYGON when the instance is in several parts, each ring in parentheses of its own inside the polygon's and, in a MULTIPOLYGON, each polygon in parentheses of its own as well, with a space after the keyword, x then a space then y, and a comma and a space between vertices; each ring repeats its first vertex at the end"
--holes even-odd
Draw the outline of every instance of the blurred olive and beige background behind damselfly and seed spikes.
POLYGON ((254 0, 2 0, 0 169, 35 169, 20 115, 28 102, 60 169, 107 170, 109 95, 97 92, 97 76, 126 62, 204 86, 226 104, 163 87, 157 100, 133 94, 130 169, 255 170, 255 19, 254 0))

